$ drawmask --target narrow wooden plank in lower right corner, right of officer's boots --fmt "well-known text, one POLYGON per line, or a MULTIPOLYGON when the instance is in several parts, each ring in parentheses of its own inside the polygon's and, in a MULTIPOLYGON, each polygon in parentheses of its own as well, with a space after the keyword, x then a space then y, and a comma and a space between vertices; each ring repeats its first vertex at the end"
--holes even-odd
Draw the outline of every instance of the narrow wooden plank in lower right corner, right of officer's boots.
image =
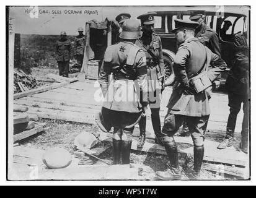
POLYGON ((249 171, 248 168, 239 168, 236 166, 226 166, 226 165, 214 165, 210 163, 203 163, 202 165, 203 170, 214 171, 216 173, 224 173, 224 174, 231 174, 234 176, 238 176, 244 179, 249 179, 249 171))

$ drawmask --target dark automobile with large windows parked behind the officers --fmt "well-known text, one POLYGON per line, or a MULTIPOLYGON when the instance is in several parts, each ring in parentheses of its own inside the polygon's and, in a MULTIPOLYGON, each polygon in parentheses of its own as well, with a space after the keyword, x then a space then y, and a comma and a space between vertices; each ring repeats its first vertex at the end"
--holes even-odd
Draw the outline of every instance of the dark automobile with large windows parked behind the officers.
MULTIPOLYGON (((232 38, 234 38, 234 35, 237 33, 245 33, 248 30, 247 16, 249 15, 249 9, 241 10, 241 8, 239 9, 239 7, 237 7, 237 9, 233 10, 225 6, 225 12, 221 9, 218 11, 215 8, 210 10, 210 7, 209 10, 203 11, 205 14, 205 24, 218 34, 219 45, 221 48, 221 58, 224 59, 228 67, 226 72, 221 74, 221 85, 224 85, 227 72, 232 65, 232 57, 234 53, 232 38), (234 12, 229 12, 233 10, 234 12), (221 28, 223 28, 224 21, 226 20, 229 20, 232 25, 226 32, 227 37, 221 38, 221 28)), ((174 79, 173 64, 174 56, 177 52, 175 34, 171 33, 171 31, 175 28, 174 19, 189 19, 192 11, 193 10, 154 11, 156 12, 154 15, 154 19, 156 21, 154 25, 154 32, 157 33, 162 40, 166 85, 172 84, 174 79)))

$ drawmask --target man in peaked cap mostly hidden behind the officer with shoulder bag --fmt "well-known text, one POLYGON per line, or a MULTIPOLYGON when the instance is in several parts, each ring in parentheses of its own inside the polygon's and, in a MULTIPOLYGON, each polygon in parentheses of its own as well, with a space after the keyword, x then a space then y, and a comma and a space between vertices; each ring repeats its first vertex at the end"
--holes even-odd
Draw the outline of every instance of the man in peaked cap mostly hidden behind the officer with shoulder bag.
MULTIPOLYGON (((218 35, 213 29, 205 24, 205 15, 203 11, 193 11, 189 19, 198 22, 199 24, 195 31, 195 37, 198 38, 203 45, 211 49, 214 54, 217 54, 220 58, 219 61, 222 62, 218 35)), ((218 88, 219 85, 219 78, 217 78, 214 80, 214 88, 218 88)), ((175 136, 189 136, 188 124, 186 122, 183 123, 182 131, 177 132, 175 136)))

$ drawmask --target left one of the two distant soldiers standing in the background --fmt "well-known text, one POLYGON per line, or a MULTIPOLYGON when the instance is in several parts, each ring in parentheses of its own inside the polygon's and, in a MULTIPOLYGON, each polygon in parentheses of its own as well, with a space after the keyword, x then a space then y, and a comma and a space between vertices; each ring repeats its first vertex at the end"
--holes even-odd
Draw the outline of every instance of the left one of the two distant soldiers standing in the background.
POLYGON ((66 32, 61 31, 60 39, 56 41, 56 61, 61 76, 68 77, 70 54, 71 41, 67 38, 66 32))

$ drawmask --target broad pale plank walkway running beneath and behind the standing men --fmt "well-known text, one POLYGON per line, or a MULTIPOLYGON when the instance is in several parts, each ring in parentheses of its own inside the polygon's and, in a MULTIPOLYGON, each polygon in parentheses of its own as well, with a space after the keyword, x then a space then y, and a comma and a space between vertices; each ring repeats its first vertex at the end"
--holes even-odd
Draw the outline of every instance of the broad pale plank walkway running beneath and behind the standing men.
MULTIPOLYGON (((171 93, 172 88, 166 88, 163 92, 160 113, 161 123, 164 121, 164 116, 167 112, 166 105, 171 93)), ((210 134, 215 134, 214 136, 221 138, 221 136, 224 136, 225 134, 226 121, 229 114, 227 95, 213 93, 210 103, 211 116, 207 130, 210 134)), ((17 106, 28 106, 29 110, 26 114, 37 114, 40 118, 62 119, 78 123, 95 124, 94 114, 99 111, 102 106, 102 95, 97 81, 86 80, 85 82, 74 82, 53 90, 35 93, 28 97, 22 97, 14 100, 14 104, 17 106)), ((147 114, 148 122, 146 126, 146 134, 149 139, 152 139, 154 137, 154 132, 152 130, 150 110, 148 110, 147 114)), ((241 126, 242 111, 237 117, 236 136, 240 136, 241 126)), ((136 126, 134 136, 138 136, 138 134, 139 130, 138 126, 136 126)), ((182 152, 193 152, 191 137, 185 137, 180 139, 180 141, 191 145, 187 149, 182 150, 182 152)), ((216 149, 218 142, 207 140, 207 138, 205 145, 205 160, 247 166, 247 155, 237 151, 234 147, 230 147, 226 150, 218 150, 216 149)), ((157 146, 154 145, 154 147, 157 146)), ((165 153, 164 149, 163 153, 165 153)))

